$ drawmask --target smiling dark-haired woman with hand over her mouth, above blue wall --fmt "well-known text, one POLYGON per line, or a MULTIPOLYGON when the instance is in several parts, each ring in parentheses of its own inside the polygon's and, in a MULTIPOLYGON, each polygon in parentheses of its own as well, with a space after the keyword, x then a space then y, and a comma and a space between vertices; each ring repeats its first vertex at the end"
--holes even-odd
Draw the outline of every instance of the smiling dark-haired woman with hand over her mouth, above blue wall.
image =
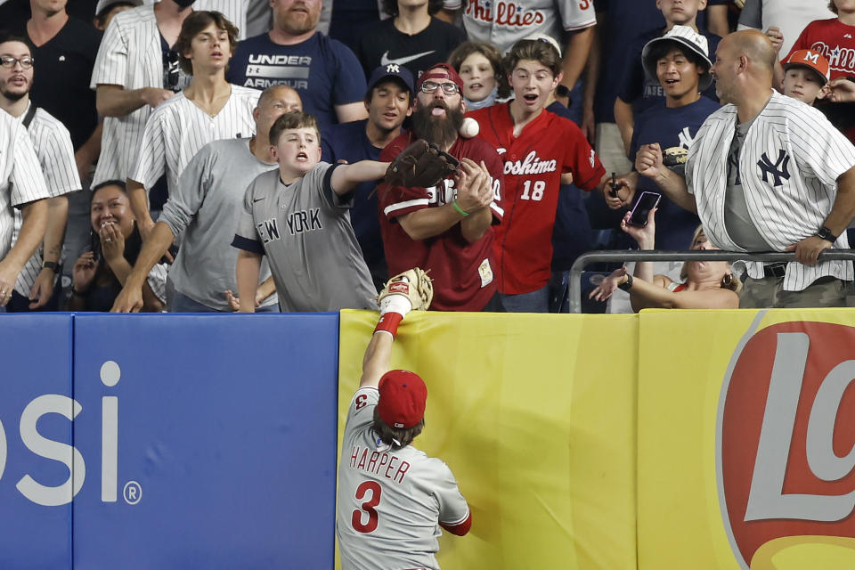
MULTIPOLYGON (((69 311, 110 311, 142 248, 125 183, 98 184, 89 209, 92 245, 72 271, 69 311)), ((166 265, 155 265, 142 288, 142 310, 160 311, 165 301, 166 265)))

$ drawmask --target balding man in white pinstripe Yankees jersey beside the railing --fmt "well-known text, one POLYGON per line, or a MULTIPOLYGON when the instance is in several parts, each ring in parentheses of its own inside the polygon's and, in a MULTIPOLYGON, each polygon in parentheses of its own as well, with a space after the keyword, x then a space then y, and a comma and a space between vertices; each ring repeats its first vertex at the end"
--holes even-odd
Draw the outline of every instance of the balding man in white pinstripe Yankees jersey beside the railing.
POLYGON ((747 264, 740 306, 842 306, 852 264, 818 255, 849 248, 855 147, 820 112, 772 90, 775 58, 757 30, 722 40, 712 75, 729 104, 697 132, 686 180, 662 166, 658 145, 642 147, 636 167, 695 210, 716 247, 795 252, 796 262, 747 264))

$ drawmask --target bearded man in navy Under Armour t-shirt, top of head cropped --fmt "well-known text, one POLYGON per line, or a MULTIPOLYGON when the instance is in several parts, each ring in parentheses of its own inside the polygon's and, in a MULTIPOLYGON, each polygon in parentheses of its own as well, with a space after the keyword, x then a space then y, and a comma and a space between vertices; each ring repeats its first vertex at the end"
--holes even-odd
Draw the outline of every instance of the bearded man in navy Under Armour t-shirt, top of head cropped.
POLYGON ((368 118, 365 76, 354 53, 317 30, 321 0, 271 0, 273 29, 238 44, 225 78, 264 90, 287 85, 321 130, 368 118))

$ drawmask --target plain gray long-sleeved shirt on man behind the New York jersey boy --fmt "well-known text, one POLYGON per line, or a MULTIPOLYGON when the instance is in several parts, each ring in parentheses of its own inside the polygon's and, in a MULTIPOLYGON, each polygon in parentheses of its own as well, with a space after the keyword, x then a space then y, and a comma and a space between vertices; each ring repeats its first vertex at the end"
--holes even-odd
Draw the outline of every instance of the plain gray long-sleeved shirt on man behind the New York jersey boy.
MULTIPOLYGON (((247 185, 274 168, 249 151, 249 139, 210 142, 187 163, 158 218, 176 238, 183 237, 169 271, 177 292, 218 311, 231 310, 224 291, 238 291, 238 250, 230 245, 247 185)), ((268 277, 270 268, 263 261, 259 278, 268 277)), ((277 300, 274 294, 262 306, 277 300)))

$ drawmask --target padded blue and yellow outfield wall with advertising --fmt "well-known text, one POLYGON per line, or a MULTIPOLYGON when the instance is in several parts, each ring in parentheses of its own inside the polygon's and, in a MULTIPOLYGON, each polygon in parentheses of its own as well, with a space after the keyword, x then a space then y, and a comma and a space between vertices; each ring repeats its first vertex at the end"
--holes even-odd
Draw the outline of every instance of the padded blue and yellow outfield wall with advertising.
MULTIPOLYGON (((4 315, 0 567, 330 568, 376 314, 4 315), (72 500, 73 497, 73 500, 72 500)), ((855 567, 855 314, 412 314, 454 568, 855 567)))

